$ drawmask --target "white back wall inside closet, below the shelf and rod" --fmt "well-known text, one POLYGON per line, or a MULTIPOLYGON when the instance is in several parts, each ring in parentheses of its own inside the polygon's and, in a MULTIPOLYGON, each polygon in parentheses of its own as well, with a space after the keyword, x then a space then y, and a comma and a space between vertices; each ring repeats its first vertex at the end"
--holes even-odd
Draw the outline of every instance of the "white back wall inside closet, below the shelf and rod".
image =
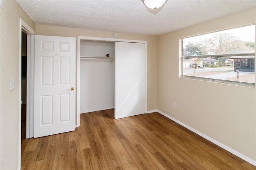
POLYGON ((114 108, 114 64, 81 59, 80 113, 114 108))

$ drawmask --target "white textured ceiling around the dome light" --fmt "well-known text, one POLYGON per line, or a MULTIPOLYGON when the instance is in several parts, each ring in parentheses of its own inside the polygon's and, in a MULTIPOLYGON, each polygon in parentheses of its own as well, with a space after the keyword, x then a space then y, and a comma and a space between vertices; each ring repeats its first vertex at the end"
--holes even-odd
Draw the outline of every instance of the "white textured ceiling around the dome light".
POLYGON ((255 0, 168 0, 160 9, 141 0, 16 0, 35 24, 160 35, 254 8, 255 0))

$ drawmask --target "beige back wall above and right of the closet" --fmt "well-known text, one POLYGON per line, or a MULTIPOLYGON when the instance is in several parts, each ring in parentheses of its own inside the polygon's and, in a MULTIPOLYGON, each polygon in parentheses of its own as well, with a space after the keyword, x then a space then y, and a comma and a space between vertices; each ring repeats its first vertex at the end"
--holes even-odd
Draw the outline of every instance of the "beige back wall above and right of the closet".
MULTIPOLYGON (((114 32, 36 25, 37 35, 114 38, 114 32)), ((118 39, 148 41, 148 111, 157 109, 157 36, 118 33, 118 39)))

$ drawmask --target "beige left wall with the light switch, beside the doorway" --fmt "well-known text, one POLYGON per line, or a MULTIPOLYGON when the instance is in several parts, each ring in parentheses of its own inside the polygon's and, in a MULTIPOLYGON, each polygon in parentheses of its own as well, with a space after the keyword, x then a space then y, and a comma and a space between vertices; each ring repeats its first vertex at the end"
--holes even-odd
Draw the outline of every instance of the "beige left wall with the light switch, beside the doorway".
POLYGON ((35 24, 13 0, 4 0, 0 13, 0 169, 18 169, 20 18, 33 29, 35 24), (9 91, 12 78, 15 88, 9 91))

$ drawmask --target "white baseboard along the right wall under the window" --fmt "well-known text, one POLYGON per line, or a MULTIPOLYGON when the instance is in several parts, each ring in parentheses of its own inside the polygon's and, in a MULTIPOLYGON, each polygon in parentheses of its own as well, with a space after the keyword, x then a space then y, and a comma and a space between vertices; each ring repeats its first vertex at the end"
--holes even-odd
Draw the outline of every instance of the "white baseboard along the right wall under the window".
MULTIPOLYGON (((148 112, 149 112, 149 111, 148 111, 148 112)), ((157 110, 157 112, 160 113, 161 115, 164 115, 165 117, 171 119, 172 121, 174 121, 174 122, 176 122, 176 123, 182 125, 183 127, 187 128, 187 129, 189 129, 189 130, 191 130, 192 132, 195 132, 196 134, 202 136, 203 138, 209 140, 210 142, 212 142, 212 143, 214 143, 214 144, 220 146, 221 148, 227 150, 228 152, 230 152, 230 153, 232 153, 232 154, 238 156, 239 158, 245 160, 246 162, 249 162, 250 164, 256 166, 256 161, 255 161, 255 160, 252 160, 251 158, 248 158, 247 156, 241 154, 240 152, 237 152, 236 150, 234 150, 234 149, 232 149, 232 148, 230 148, 230 147, 228 147, 228 146, 226 146, 226 145, 224 145, 224 144, 218 142, 217 140, 214 140, 213 138, 210 138, 209 136, 207 136, 207 135, 205 135, 205 134, 199 132, 198 130, 196 130, 196 129, 194 129, 194 128, 192 128, 192 127, 190 127, 190 126, 188 126, 188 125, 186 125, 186 124, 184 124, 184 123, 178 121, 177 119, 174 119, 173 117, 171 117, 171 116, 169 116, 169 115, 163 113, 162 111, 157 110)))

